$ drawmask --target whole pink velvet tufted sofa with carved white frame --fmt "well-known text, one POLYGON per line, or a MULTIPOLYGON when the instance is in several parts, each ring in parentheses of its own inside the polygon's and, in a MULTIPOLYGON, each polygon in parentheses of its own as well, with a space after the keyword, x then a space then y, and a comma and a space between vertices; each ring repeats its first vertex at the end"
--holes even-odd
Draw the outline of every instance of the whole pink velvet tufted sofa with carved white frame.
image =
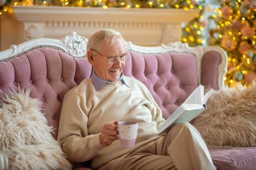
MULTIPOLYGON (((92 73, 93 68, 86 58, 87 41, 71 32, 61 40, 34 39, 1 51, 0 97, 11 89, 17 91, 18 84, 21 88, 31 88, 30 96, 42 102, 56 139, 63 95, 92 73)), ((126 42, 126 47, 131 59, 126 62, 124 75, 146 84, 164 118, 169 117, 199 84, 215 90, 225 85, 227 55, 218 47, 189 47, 181 42, 155 47, 126 42)), ((208 148, 217 170, 256 169, 254 147, 208 148)), ((75 168, 88 170, 90 161, 74 163, 75 168)))

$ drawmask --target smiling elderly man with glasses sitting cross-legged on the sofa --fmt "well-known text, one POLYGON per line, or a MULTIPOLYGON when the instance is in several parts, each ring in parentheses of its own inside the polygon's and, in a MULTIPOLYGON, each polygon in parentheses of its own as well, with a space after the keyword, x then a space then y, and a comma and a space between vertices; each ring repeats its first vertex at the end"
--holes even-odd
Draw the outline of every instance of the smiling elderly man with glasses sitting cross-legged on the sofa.
POLYGON ((198 131, 189 123, 157 135, 162 112, 146 86, 123 75, 130 56, 122 35, 94 33, 87 44, 92 76, 65 94, 58 141, 72 162, 91 160, 99 170, 215 170, 198 131), (119 121, 139 123, 136 144, 123 148, 119 121))

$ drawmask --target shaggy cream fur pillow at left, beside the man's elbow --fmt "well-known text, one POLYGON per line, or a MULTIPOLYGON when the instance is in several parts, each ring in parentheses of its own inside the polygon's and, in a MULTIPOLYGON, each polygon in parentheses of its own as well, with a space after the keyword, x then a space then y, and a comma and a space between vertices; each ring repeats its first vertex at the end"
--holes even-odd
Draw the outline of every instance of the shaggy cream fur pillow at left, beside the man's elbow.
POLYGON ((52 128, 29 97, 30 90, 9 92, 0 102, 0 150, 9 160, 9 170, 70 170, 52 128))

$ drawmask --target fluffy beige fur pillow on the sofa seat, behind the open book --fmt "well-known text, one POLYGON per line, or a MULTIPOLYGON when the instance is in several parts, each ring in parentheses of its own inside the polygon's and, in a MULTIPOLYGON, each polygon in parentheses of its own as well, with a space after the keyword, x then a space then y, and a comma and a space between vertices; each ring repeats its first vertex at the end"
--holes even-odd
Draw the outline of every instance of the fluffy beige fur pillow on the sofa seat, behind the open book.
POLYGON ((256 146, 256 83, 213 91, 191 124, 214 146, 256 146))

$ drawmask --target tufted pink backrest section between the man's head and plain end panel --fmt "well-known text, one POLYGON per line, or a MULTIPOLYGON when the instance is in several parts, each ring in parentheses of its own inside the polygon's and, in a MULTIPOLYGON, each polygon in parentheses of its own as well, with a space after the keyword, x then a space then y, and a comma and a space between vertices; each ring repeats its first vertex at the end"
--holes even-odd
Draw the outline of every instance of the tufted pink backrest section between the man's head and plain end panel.
POLYGON ((198 87, 195 57, 189 53, 142 54, 131 56, 124 75, 143 82, 167 119, 198 87))

